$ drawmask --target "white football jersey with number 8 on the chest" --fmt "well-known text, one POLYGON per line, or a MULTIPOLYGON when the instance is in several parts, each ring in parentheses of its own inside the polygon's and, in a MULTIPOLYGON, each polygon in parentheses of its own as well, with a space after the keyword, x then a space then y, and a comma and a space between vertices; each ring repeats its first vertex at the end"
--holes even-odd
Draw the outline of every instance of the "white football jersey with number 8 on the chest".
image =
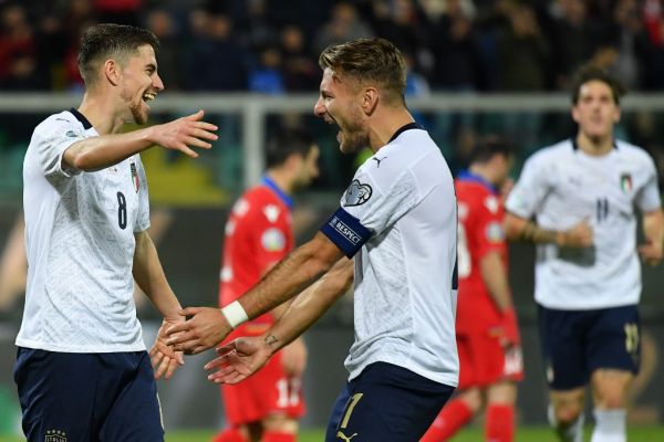
POLYGON ((75 109, 51 115, 23 162, 28 287, 17 345, 50 351, 144 350, 133 301, 134 233, 149 227, 141 157, 95 172, 62 168, 98 134, 75 109))

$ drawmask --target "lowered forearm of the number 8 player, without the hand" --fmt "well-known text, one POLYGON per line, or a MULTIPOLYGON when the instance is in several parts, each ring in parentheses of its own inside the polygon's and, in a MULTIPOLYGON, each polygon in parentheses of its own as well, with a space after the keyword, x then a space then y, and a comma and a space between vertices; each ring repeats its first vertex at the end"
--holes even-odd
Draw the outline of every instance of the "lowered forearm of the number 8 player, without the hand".
POLYGON ((132 269, 134 280, 165 318, 177 318, 181 308, 170 288, 159 262, 157 249, 147 232, 136 234, 136 250, 132 269))

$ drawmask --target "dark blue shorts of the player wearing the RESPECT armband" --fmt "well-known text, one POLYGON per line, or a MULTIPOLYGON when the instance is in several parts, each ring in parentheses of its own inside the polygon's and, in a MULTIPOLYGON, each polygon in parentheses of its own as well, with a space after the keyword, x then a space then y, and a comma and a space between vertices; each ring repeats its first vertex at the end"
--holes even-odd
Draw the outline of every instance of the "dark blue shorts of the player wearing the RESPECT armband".
POLYGON ((403 367, 372 364, 336 398, 325 441, 417 442, 453 392, 403 367))

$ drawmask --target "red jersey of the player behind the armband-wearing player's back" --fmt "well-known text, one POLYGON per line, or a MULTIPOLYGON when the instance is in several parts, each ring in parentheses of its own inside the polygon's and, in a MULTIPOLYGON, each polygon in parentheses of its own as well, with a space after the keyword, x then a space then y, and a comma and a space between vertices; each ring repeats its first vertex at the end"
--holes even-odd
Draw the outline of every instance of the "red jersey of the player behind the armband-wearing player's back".
POLYGON ((500 313, 487 291, 479 269, 491 251, 500 253, 507 266, 507 244, 501 198, 487 181, 470 173, 455 180, 458 202, 457 334, 486 333, 500 325, 500 313))

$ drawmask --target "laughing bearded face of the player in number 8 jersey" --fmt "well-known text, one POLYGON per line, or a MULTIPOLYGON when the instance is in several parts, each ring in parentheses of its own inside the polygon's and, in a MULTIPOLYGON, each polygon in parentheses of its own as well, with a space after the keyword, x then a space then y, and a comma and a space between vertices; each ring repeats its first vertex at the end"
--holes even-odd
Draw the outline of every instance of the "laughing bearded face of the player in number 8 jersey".
POLYGON ((147 123, 149 106, 147 102, 154 99, 164 90, 164 83, 157 73, 157 60, 152 45, 144 44, 135 53, 121 63, 121 98, 126 105, 127 120, 143 125, 147 123))

